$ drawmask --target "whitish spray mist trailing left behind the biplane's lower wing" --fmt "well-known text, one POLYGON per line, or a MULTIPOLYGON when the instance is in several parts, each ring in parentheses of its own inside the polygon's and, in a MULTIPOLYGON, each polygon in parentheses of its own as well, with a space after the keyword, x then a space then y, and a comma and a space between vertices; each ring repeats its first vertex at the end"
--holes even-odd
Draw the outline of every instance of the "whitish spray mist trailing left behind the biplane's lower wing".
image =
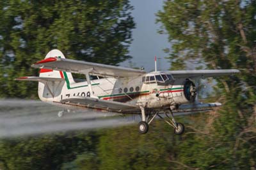
POLYGON ((88 130, 134 123, 113 112, 71 109, 61 118, 63 108, 36 100, 0 100, 0 138, 45 134, 68 130, 88 130))

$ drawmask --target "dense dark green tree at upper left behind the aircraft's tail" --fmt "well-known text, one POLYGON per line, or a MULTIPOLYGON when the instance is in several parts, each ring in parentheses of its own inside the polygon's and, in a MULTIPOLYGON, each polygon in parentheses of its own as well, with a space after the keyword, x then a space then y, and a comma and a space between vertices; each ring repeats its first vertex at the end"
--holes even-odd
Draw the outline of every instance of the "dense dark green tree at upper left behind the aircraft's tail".
POLYGON ((36 75, 30 65, 51 49, 110 65, 131 58, 131 10, 129 0, 1 1, 0 97, 35 98, 35 83, 13 79, 36 75))

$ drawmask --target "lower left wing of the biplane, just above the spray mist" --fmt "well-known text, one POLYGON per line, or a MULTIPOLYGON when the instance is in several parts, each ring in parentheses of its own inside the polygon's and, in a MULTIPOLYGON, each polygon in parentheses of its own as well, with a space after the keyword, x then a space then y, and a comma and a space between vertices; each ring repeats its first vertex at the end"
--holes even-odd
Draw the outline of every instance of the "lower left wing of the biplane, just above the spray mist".
POLYGON ((61 103, 68 105, 76 105, 80 107, 89 107, 95 109, 103 109, 106 111, 122 112, 122 113, 138 113, 140 108, 136 105, 125 104, 121 102, 113 102, 109 100, 101 100, 92 97, 76 97, 61 100, 61 103))

